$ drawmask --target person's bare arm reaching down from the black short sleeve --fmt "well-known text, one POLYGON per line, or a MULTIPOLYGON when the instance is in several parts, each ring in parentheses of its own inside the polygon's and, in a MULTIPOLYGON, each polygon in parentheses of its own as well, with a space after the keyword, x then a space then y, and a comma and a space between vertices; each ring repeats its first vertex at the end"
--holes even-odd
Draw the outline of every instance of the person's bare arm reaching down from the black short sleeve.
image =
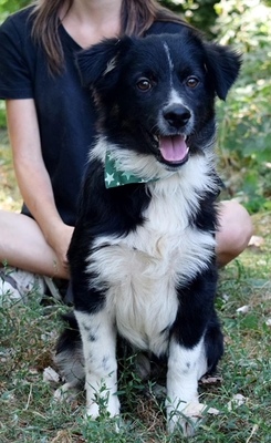
POLYGON ((7 100, 7 120, 22 198, 45 240, 64 264, 73 227, 62 222, 55 207, 51 181, 42 158, 33 99, 7 100))

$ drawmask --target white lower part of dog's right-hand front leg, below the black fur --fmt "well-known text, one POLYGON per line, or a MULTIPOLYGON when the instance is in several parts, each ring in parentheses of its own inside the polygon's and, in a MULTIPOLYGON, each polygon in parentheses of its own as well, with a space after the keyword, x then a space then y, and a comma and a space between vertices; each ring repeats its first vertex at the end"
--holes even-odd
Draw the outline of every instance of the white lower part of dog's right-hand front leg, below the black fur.
POLYGON ((207 370, 204 340, 194 348, 180 346, 174 338, 169 346, 167 373, 168 430, 180 425, 186 436, 194 434, 197 416, 198 380, 207 370))

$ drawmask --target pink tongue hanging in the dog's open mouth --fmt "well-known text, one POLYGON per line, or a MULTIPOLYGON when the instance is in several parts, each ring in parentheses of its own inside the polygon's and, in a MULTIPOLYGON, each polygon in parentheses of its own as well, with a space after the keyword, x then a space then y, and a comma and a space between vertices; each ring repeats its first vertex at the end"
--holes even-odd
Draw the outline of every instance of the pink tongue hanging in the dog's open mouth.
POLYGON ((181 162, 188 152, 185 137, 183 135, 160 136, 160 153, 167 162, 181 162))

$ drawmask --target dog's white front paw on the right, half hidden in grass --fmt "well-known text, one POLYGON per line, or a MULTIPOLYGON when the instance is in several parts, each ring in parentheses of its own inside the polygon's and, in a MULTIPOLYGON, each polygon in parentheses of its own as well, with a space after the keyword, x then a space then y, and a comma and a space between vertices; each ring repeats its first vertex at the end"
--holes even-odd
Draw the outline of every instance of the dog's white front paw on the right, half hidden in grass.
POLYGON ((206 406, 199 402, 190 402, 179 408, 169 408, 167 412, 168 431, 174 432, 176 427, 181 429, 185 436, 192 436, 202 419, 206 406))

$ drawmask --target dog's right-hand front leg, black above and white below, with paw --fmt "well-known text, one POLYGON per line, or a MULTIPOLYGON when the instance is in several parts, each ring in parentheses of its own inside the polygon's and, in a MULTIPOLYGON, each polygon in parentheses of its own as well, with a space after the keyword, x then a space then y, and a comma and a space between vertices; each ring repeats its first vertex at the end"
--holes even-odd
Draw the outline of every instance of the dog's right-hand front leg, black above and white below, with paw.
POLYGON ((208 369, 205 334, 213 312, 216 284, 216 267, 210 266, 178 293, 179 310, 169 342, 167 416, 169 430, 178 423, 185 435, 194 434, 200 415, 198 380, 208 369))

